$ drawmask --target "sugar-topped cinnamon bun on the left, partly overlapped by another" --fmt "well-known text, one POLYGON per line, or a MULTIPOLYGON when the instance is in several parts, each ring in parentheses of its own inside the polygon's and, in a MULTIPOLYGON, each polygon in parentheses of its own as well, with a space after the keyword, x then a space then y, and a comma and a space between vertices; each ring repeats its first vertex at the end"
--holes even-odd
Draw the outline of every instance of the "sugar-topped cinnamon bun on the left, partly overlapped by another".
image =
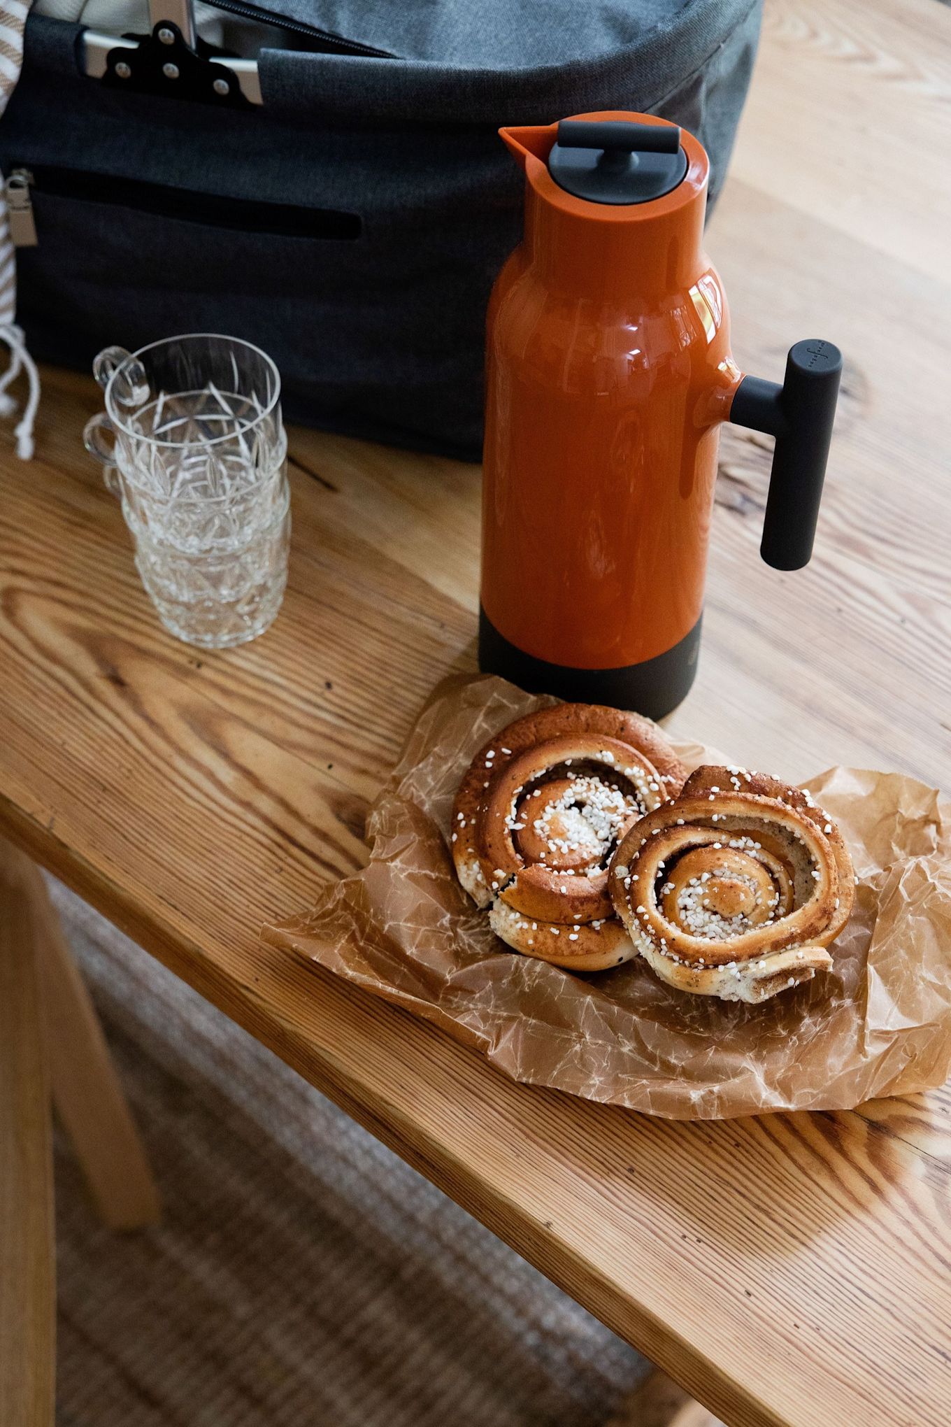
POLYGON ((607 863, 683 778, 662 731, 637 714, 589 704, 529 714, 476 753, 459 786, 459 880, 518 952, 575 970, 629 960, 607 863))

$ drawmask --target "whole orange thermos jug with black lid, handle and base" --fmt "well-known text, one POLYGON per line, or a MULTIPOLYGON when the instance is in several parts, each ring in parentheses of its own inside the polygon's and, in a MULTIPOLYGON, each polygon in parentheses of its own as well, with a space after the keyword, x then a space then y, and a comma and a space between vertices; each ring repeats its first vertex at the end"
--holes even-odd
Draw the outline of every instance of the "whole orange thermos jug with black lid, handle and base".
POLYGON ((659 718, 696 672, 720 422, 776 437, 761 554, 798 569, 841 354, 797 342, 781 387, 739 371, 686 130, 603 113, 502 137, 525 237, 489 304, 479 662, 659 718))

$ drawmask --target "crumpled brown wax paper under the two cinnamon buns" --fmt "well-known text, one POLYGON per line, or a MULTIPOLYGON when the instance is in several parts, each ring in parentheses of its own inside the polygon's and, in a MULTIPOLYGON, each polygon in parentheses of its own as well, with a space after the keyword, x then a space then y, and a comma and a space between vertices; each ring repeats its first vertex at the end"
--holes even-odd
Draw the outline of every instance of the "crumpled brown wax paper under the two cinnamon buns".
MULTIPOLYGON (((951 811, 900 773, 804 786, 858 880, 834 970, 761 1006, 677 992, 636 959, 576 975, 508 950, 456 882, 452 801, 472 756, 553 704, 496 678, 433 694, 368 821, 369 865, 264 938, 478 1046, 516 1080, 672 1119, 848 1109, 951 1069, 951 811)), ((724 759, 676 743, 689 768, 724 759)), ((768 769, 770 772, 781 772, 768 769)))

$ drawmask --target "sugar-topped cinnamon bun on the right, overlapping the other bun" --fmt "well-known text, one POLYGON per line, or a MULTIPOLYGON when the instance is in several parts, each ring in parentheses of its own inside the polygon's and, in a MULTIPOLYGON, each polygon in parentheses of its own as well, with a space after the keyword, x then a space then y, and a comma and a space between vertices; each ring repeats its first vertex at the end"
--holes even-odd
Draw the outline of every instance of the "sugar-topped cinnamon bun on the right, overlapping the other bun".
POLYGON ((657 976, 751 1003, 831 966, 855 896, 841 833, 807 793, 714 766, 629 829, 609 885, 657 976))

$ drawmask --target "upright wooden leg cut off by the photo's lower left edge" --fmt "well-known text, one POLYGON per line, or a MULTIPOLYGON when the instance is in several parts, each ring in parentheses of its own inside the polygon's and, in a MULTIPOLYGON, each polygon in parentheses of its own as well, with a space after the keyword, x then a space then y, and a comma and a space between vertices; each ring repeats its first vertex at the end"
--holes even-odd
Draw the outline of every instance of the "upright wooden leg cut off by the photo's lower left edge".
POLYGON ((31 903, 0 866, 0 1423, 53 1427, 53 1134, 31 903))

